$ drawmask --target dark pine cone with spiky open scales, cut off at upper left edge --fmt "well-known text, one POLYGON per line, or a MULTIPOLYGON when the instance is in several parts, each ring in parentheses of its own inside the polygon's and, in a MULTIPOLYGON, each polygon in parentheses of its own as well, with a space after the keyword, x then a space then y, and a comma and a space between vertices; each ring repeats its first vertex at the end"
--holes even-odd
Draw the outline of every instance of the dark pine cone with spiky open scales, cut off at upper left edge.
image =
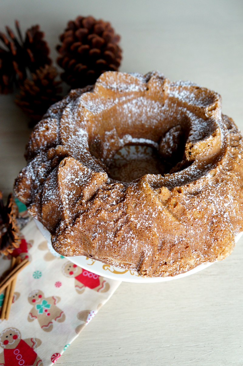
POLYGON ((27 29, 24 41, 18 21, 15 26, 18 38, 9 27, 6 27, 7 36, 0 32, 0 40, 5 46, 0 47, 0 93, 5 94, 12 91, 13 83, 26 79, 27 68, 33 72, 51 64, 50 51, 43 41, 44 33, 39 31, 39 25, 27 29))

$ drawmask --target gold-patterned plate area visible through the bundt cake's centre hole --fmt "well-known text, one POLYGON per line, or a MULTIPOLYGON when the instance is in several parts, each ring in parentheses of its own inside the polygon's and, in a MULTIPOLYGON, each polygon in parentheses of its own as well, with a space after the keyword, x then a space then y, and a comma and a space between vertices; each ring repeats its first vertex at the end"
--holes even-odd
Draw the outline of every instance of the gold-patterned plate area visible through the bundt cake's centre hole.
POLYGON ((156 149, 143 145, 122 147, 109 165, 109 177, 130 183, 145 174, 164 174, 166 165, 156 149))

